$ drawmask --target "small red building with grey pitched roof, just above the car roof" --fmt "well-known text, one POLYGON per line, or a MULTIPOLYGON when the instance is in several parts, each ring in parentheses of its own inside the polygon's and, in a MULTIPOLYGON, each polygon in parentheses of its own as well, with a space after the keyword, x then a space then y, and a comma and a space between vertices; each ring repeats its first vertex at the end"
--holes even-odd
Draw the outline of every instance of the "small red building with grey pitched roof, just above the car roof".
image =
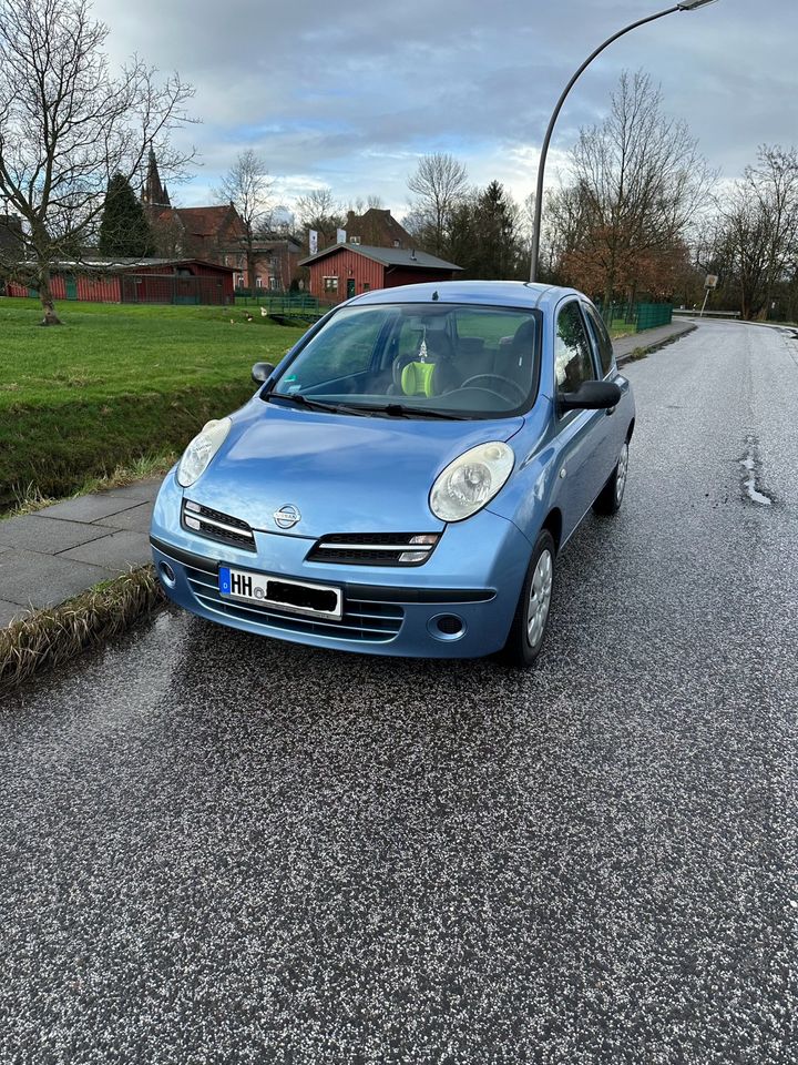
POLYGON ((367 244, 334 244, 299 265, 310 270, 310 294, 327 303, 340 303, 371 288, 452 281, 462 270, 415 248, 367 244))

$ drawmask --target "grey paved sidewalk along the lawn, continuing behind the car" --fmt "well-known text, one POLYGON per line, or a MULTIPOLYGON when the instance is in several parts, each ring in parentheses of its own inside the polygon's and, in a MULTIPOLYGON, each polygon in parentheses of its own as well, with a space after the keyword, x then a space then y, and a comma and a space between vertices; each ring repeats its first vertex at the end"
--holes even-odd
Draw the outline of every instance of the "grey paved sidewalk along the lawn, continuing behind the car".
MULTIPOLYGON (((692 323, 674 322, 634 333, 615 341, 615 354, 622 359, 636 347, 662 344, 692 328, 692 323)), ((162 480, 141 480, 0 520, 0 628, 149 562, 150 517, 162 480)))

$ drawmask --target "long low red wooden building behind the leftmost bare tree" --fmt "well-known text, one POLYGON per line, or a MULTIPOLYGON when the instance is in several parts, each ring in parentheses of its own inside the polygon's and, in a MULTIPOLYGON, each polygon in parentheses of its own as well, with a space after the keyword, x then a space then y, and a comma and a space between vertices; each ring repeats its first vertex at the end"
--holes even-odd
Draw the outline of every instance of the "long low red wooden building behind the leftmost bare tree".
MULTIPOLYGON (((232 305, 233 267, 198 258, 90 260, 52 271, 54 300, 89 303, 184 303, 232 305)), ((9 282, 9 296, 35 296, 30 285, 9 282)))

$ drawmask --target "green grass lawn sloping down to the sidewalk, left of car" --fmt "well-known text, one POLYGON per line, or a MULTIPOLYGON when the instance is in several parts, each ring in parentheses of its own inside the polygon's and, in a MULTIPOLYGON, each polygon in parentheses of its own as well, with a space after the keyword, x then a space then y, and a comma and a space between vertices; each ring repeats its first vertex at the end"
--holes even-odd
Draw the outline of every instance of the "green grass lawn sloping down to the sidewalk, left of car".
POLYGON ((143 455, 180 452, 208 417, 244 403, 255 362, 304 328, 239 307, 0 298, 0 509, 31 488, 66 495, 143 455), (233 324, 232 324, 233 323, 233 324))

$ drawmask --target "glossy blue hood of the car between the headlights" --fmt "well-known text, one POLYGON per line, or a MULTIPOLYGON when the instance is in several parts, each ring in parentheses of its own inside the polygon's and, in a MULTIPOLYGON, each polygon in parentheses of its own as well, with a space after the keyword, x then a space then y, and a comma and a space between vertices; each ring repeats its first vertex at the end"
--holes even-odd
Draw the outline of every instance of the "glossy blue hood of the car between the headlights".
POLYGON ((522 417, 490 422, 324 414, 253 400, 186 498, 282 531, 274 519, 293 505, 291 536, 424 532, 443 523, 428 498, 438 474, 463 452, 509 440, 522 417))

